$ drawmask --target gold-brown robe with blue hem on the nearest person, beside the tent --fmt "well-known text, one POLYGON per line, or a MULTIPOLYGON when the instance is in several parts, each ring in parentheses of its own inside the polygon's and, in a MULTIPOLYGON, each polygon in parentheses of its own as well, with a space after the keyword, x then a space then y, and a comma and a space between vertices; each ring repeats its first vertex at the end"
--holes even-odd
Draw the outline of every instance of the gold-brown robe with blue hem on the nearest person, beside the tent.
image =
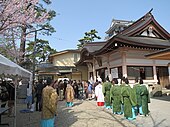
POLYGON ((57 92, 51 86, 46 86, 42 92, 41 127, 54 127, 54 116, 57 110, 57 92))

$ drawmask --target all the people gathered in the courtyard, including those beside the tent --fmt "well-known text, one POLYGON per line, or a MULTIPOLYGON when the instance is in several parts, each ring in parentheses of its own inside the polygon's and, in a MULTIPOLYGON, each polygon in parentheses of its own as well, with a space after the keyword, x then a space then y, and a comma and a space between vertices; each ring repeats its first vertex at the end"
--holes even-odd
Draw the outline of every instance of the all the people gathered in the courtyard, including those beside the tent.
MULTIPOLYGON (((75 99, 94 100, 97 106, 111 109, 115 115, 124 115, 128 120, 134 120, 137 116, 148 116, 150 97, 147 86, 142 78, 136 78, 134 84, 129 84, 128 78, 109 78, 103 81, 100 77, 96 81, 55 80, 39 79, 33 87, 27 85, 27 108, 36 104, 36 111, 42 112, 41 127, 53 127, 57 115, 58 101, 65 101, 66 107, 74 106, 75 99), (33 90, 33 94, 31 94, 33 90)), ((12 83, 0 83, 0 99, 6 105, 13 106, 14 86, 12 83), (9 85, 7 85, 9 84, 9 85)), ((11 114, 11 111, 9 111, 11 114)))

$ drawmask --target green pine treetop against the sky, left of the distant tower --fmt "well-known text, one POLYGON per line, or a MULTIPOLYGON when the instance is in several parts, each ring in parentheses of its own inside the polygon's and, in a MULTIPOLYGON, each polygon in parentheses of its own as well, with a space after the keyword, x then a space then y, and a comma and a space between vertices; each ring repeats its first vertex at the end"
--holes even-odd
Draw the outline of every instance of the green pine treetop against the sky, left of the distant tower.
POLYGON ((97 35, 97 31, 95 29, 90 30, 89 32, 85 32, 84 37, 79 39, 80 44, 77 44, 77 48, 81 49, 88 42, 93 42, 95 39, 101 39, 100 36, 97 35))

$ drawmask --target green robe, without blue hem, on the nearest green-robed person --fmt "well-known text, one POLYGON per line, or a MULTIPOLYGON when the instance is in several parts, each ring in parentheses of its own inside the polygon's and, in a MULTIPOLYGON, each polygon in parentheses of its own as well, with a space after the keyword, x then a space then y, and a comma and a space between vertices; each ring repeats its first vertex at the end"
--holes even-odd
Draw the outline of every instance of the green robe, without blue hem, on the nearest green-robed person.
POLYGON ((124 116, 132 118, 132 106, 137 104, 135 92, 129 85, 125 85, 121 89, 121 95, 124 105, 124 116))

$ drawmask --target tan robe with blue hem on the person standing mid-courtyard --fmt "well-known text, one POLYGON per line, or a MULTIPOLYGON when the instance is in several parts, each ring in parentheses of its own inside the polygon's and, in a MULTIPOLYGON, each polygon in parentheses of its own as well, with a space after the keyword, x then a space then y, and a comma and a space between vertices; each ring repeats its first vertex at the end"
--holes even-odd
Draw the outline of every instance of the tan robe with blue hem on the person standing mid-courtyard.
POLYGON ((67 84, 66 87, 66 106, 72 107, 74 99, 74 89, 70 84, 67 84))

